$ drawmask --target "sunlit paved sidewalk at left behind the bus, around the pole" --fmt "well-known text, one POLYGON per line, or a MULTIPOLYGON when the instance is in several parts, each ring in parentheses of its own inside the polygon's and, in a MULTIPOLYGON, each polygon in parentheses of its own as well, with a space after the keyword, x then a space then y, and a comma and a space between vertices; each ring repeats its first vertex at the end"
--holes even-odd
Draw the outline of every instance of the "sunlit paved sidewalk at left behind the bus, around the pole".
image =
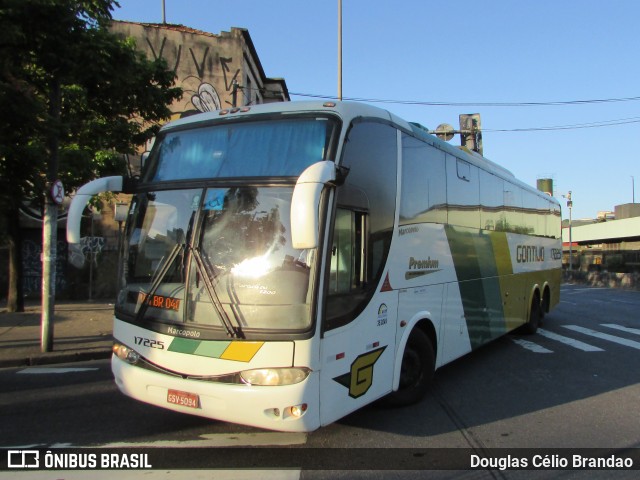
POLYGON ((55 305, 53 351, 40 351, 41 307, 0 310, 0 368, 109 358, 113 344, 113 304, 60 301, 55 305))

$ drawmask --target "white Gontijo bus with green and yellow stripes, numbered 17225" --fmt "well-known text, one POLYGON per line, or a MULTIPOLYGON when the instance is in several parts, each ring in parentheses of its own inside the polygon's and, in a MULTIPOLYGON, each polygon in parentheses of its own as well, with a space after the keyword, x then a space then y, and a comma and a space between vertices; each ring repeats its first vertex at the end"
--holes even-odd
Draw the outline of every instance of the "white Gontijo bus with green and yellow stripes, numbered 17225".
MULTIPOLYGON (((124 186, 124 188, 123 188, 124 186)), ((560 207, 480 155, 372 106, 294 102, 164 126, 133 195, 115 305, 122 392, 312 431, 434 371, 560 295, 560 207)))

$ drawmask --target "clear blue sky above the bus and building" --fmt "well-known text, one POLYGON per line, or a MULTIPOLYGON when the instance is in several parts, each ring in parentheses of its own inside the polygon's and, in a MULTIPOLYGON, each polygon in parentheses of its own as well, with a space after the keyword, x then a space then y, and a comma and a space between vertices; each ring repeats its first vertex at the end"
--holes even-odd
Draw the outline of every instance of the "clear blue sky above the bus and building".
MULTIPOLYGON (((162 0, 118 2, 117 20, 162 22, 162 0)), ((210 33, 246 28, 294 101, 337 96, 338 0, 165 0, 165 12, 210 33)), ((487 158, 530 185, 552 178, 563 218, 569 191, 573 219, 595 218, 635 191, 640 202, 639 18, 638 0, 343 0, 342 93, 430 129, 480 113, 487 158)))

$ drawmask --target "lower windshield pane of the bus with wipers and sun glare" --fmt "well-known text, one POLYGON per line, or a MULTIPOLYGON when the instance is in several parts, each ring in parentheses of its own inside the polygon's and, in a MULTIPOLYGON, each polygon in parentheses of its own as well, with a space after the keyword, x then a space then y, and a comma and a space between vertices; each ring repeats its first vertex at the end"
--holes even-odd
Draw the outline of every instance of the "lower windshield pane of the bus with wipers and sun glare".
POLYGON ((292 193, 260 186, 139 194, 120 313, 241 338, 309 328, 315 251, 291 246, 292 193))

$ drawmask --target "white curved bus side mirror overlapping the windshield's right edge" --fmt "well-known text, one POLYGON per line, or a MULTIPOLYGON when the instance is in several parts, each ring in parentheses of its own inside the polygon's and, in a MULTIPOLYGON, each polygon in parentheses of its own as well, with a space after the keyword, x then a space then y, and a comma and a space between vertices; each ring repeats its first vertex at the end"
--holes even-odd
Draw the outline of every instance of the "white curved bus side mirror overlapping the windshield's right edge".
POLYGON ((318 246, 320 195, 325 185, 336 180, 336 164, 329 160, 314 163, 302 172, 291 199, 291 242, 293 248, 318 246))

